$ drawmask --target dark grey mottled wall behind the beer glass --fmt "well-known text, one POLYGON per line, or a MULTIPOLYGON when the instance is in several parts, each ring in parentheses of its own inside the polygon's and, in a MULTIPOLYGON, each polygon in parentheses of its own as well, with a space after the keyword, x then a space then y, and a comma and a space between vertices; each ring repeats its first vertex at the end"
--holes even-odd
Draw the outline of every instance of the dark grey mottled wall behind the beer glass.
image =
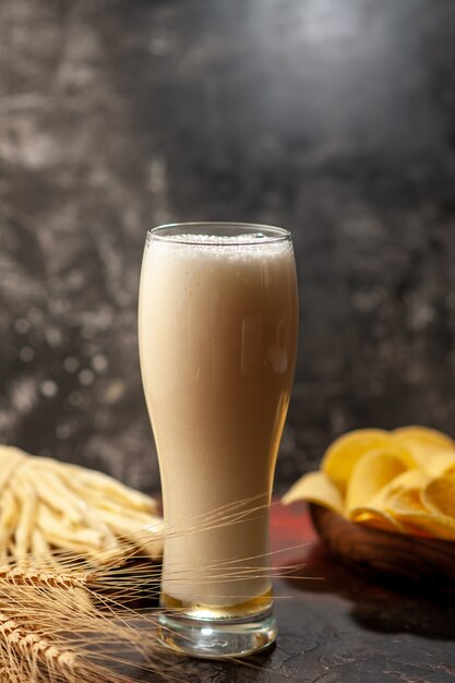
POLYGON ((359 427, 455 433, 453 0, 1 0, 0 441, 158 488, 146 228, 292 230, 283 490, 359 427))

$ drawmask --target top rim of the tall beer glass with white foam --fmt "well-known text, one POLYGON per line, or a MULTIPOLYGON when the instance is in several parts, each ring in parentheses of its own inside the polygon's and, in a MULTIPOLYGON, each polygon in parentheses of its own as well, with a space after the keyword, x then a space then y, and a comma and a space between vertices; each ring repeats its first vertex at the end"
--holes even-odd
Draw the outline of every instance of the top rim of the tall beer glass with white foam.
POLYGON ((238 247, 239 244, 271 244, 291 239, 285 228, 260 223, 237 223, 229 220, 203 220, 168 223, 147 230, 147 241, 157 240, 172 244, 203 244, 204 247, 238 247), (197 236, 194 240, 191 237, 197 236), (207 237, 204 240, 204 236, 207 237), (218 241, 211 237, 238 237, 236 241, 218 241))

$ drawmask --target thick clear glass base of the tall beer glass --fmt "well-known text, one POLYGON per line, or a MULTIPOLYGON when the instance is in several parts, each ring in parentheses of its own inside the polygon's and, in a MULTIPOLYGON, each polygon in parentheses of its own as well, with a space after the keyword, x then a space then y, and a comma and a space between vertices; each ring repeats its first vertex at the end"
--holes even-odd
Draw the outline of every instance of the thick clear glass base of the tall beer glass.
POLYGON ((161 645, 190 657, 226 659, 247 657, 270 647, 276 638, 272 612, 244 619, 194 619, 183 614, 158 618, 161 645))

